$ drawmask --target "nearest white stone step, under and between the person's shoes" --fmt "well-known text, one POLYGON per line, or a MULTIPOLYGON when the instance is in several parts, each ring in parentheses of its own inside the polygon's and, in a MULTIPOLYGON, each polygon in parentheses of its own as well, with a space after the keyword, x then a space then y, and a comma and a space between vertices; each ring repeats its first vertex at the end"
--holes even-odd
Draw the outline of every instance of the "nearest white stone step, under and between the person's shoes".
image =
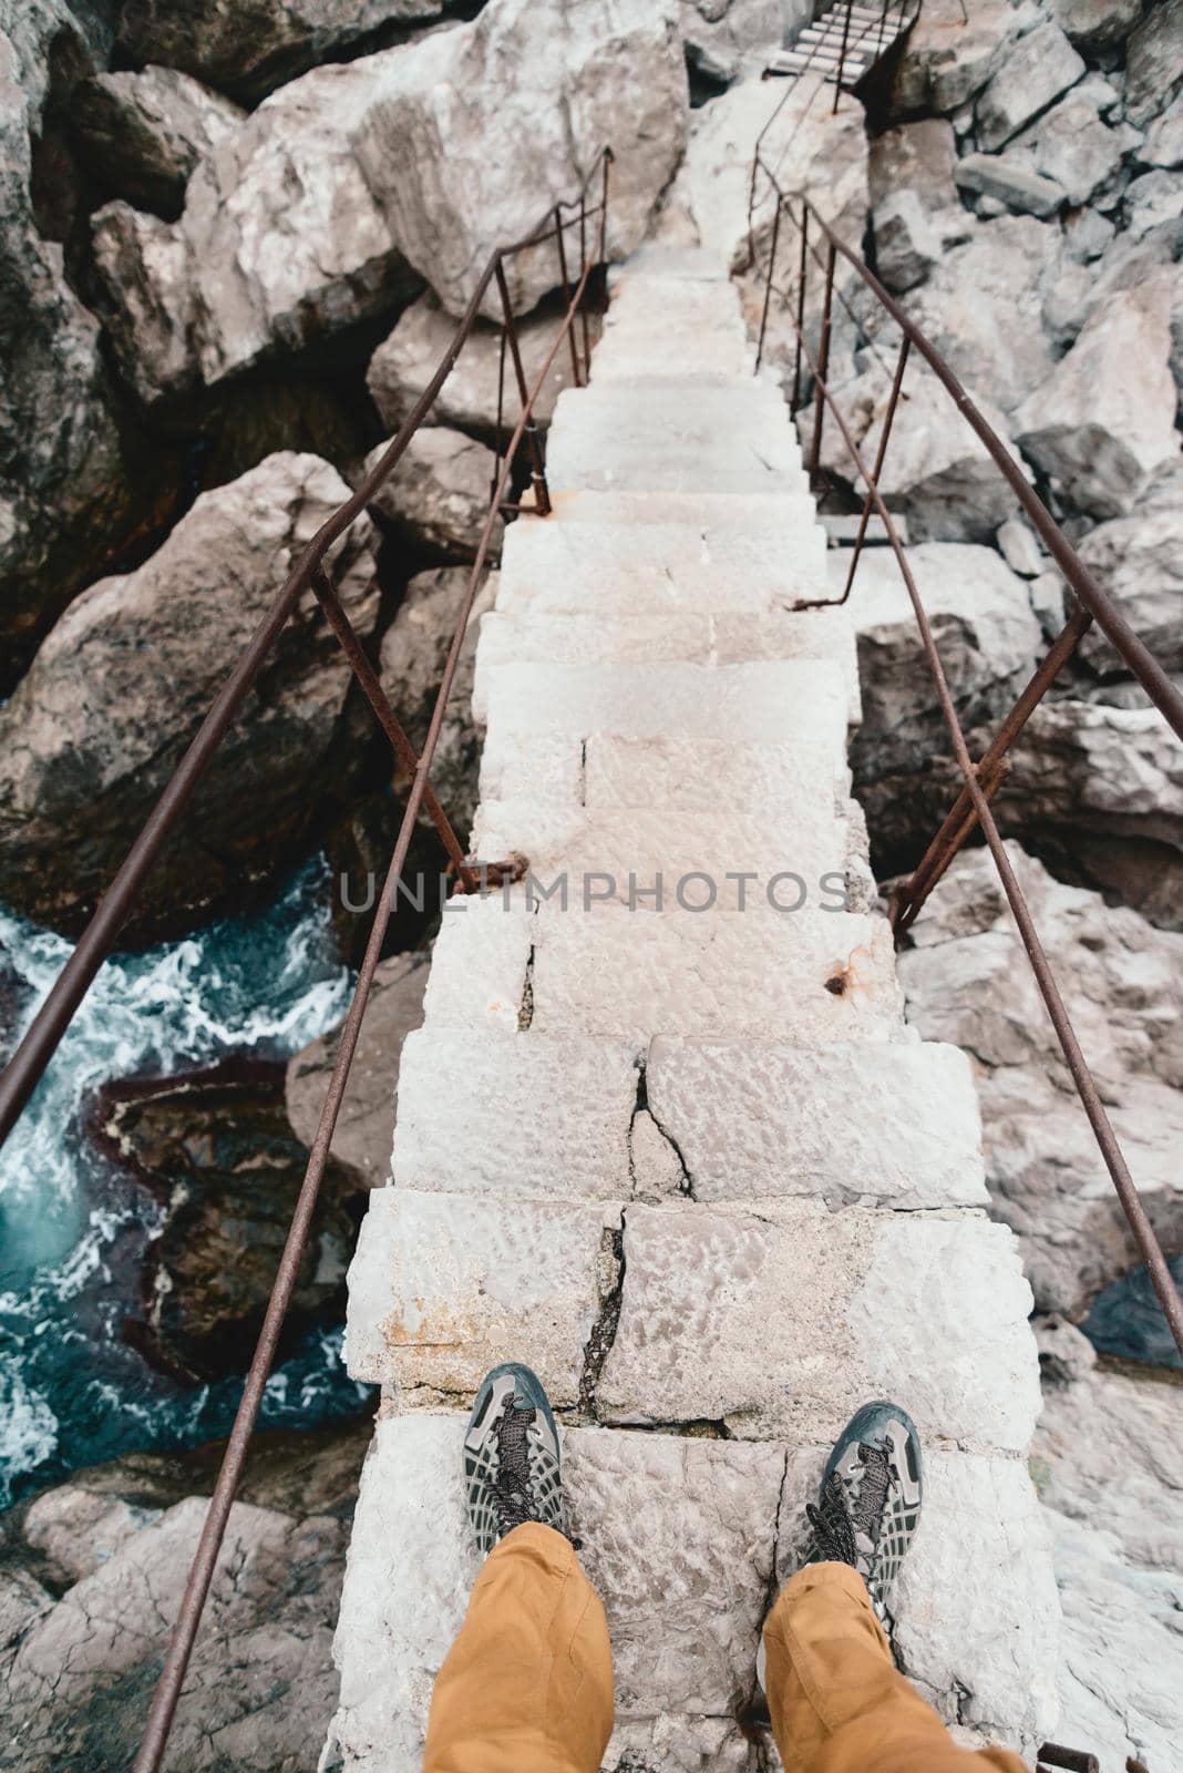
MULTIPOLYGON (((361 1473, 335 1642, 336 1738, 358 1773, 418 1773, 423 1761, 432 1684, 478 1571, 464 1420, 460 1411, 379 1417, 361 1473)), ((746 1766, 735 1695, 754 1684, 769 1594, 797 1567, 829 1449, 561 1433, 572 1530, 613 1642, 618 1729, 604 1766, 746 1766)), ((926 1697, 951 1706, 972 1674, 976 1720, 1047 1736, 1055 1590, 1020 1461, 926 1452, 924 1512, 900 1596, 896 1644, 926 1697), (967 1582, 967 1571, 990 1580, 967 1582)))

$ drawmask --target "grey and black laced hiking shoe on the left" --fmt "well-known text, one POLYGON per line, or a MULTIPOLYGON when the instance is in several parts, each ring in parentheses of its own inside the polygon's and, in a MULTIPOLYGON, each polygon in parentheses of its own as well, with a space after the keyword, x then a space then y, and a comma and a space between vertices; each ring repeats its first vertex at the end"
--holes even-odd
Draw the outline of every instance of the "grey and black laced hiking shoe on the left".
POLYGON ((464 1436, 464 1493, 482 1553, 522 1521, 567 1532, 558 1429, 530 1367, 494 1367, 464 1436))

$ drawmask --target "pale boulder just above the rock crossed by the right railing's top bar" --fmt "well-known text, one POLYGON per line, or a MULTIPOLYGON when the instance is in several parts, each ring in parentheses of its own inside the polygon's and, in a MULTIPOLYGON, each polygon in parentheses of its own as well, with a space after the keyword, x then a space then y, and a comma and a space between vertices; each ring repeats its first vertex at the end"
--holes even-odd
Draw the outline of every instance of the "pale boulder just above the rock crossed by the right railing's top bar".
POLYGON ((1061 273, 1059 229, 1004 216, 947 250, 903 305, 956 376, 1011 413, 1055 362, 1043 309, 1061 273))

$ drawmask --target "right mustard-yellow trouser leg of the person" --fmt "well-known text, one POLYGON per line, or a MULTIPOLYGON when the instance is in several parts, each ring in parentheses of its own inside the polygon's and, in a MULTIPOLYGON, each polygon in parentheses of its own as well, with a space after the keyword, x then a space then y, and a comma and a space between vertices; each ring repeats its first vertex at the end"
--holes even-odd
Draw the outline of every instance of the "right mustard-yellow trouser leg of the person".
POLYGON ((891 1660, 866 1583, 809 1564, 763 1628, 772 1732, 786 1773, 1025 1773, 1006 1748, 958 1748, 891 1660))

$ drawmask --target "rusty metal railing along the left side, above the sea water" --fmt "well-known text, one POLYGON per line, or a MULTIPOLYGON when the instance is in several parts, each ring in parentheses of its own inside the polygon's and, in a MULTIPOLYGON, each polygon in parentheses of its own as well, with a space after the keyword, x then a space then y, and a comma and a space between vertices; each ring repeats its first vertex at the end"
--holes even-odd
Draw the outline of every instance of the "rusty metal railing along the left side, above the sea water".
MULTIPOLYGON (((267 1376, 274 1363, 274 1355, 280 1340, 280 1330, 283 1326, 283 1317, 290 1303, 296 1278, 299 1271, 299 1262, 308 1239, 308 1229, 312 1225, 312 1215, 317 1202, 317 1193, 324 1175, 324 1168, 329 1156, 329 1145, 333 1140, 333 1131, 336 1128, 336 1117, 340 1113, 342 1099, 345 1094, 345 1085, 349 1082, 349 1071, 352 1066, 354 1051, 358 1046, 358 1035, 361 1030, 361 1019, 365 1016, 367 1002, 370 996, 370 988, 374 984, 374 973, 383 952, 383 941, 386 938, 386 929, 391 917, 391 908, 395 902, 395 886, 402 876, 402 869, 407 860, 407 847, 411 842, 411 833, 420 810, 427 812, 436 826, 439 839, 448 853, 450 863, 455 871, 455 890, 457 892, 475 892, 483 888, 487 883, 496 885, 498 879, 514 874, 521 867, 521 858, 501 863, 476 863, 464 855, 460 842, 452 828, 452 823, 439 805, 436 793, 429 782, 429 771, 432 759, 436 755, 436 745, 439 741, 439 732, 445 718, 445 709, 448 706, 448 697, 452 693, 452 684, 455 679, 457 663, 460 658, 460 647, 464 644, 464 631, 469 622, 476 590, 485 571, 485 562, 489 558, 491 541, 496 523, 503 511, 521 511, 521 504, 512 504, 506 498, 510 491, 514 468, 519 450, 526 450, 530 463, 530 479, 533 486, 533 509, 537 514, 545 516, 551 509, 545 470, 542 461, 542 449, 538 441, 537 424, 535 424, 535 406, 542 387, 545 385, 551 367, 560 355, 560 351, 570 342, 570 372, 576 385, 586 381, 590 367, 590 328, 588 328, 588 309, 592 303, 590 285, 592 277, 606 262, 606 232, 607 232, 607 197, 609 197, 609 167, 611 167, 611 149, 604 147, 592 165, 592 172, 584 179, 579 193, 556 204, 549 209, 547 216, 538 223, 538 227, 528 234, 524 239, 514 241, 508 246, 498 248, 489 259, 485 269, 482 271, 476 287, 473 289, 468 309, 457 324, 452 344, 445 353, 436 374, 423 388, 423 394, 414 402, 414 408, 407 415, 398 434, 391 440, 390 447, 383 452, 381 459, 367 473, 367 477, 358 484, 352 498, 333 512, 333 516, 317 530, 312 543, 301 555, 294 571, 276 592, 267 615, 259 624, 255 635, 246 645, 237 665, 230 672, 213 707, 209 709, 200 730, 197 732, 193 743, 184 754, 177 771, 168 782, 165 793, 156 803, 152 814, 149 816, 143 830, 131 846, 122 867, 112 879, 99 908, 90 918, 87 929, 83 931, 74 952, 62 968, 53 989, 50 991, 46 1002, 41 1005, 37 1016, 34 1018, 25 1039, 18 1046, 16 1053, 0 1074, 0 1144, 7 1138, 16 1119, 25 1108, 28 1097, 32 1096, 37 1082, 41 1080, 50 1058, 53 1057, 62 1035, 66 1034, 78 1005, 85 998, 99 966, 108 957, 120 929, 128 922, 131 908, 135 904, 136 894, 156 862, 159 851, 168 840, 170 832, 175 828, 177 821, 184 814, 184 808, 205 773, 209 761, 213 759, 218 745, 221 743, 227 729, 234 722, 246 693, 250 691, 259 670, 267 658, 271 647, 274 645, 278 635, 283 631, 289 617, 292 615, 299 598, 312 590, 324 610, 326 621, 329 622, 333 633, 336 635, 345 658, 370 702, 379 725, 383 727, 386 738, 390 739, 398 761, 411 775, 411 789, 407 794, 407 803, 402 814, 402 823, 398 826, 398 835, 395 840, 395 849, 390 860, 390 869, 386 874, 386 883, 383 894, 377 901, 374 913, 374 924, 370 927, 370 936, 365 949, 365 957, 358 970, 358 984, 349 1005, 349 1014, 340 1034, 340 1044, 336 1051, 336 1064, 333 1066, 333 1076, 329 1080, 328 1094, 324 1099, 324 1108, 321 1110, 321 1121, 317 1124, 317 1133, 312 1144, 312 1152, 308 1156, 308 1167, 305 1170, 305 1179, 296 1200, 296 1209, 292 1213, 290 1229, 287 1241, 283 1245, 283 1254, 276 1268, 274 1285, 271 1289, 271 1298, 267 1301, 267 1312, 259 1332, 259 1342, 255 1346, 255 1355, 246 1374, 246 1383, 243 1386, 243 1397, 234 1418, 234 1427, 230 1429, 230 1438, 227 1441, 227 1450, 218 1470, 218 1479, 209 1502, 209 1511, 205 1514, 205 1523, 193 1555, 193 1564, 181 1599, 181 1610, 177 1613, 177 1622, 172 1629, 168 1642, 168 1651, 165 1656, 165 1665, 161 1670, 159 1684, 156 1688, 149 1718, 145 1723, 143 1738, 140 1743, 140 1752, 135 1762, 135 1773, 158 1773, 165 1746, 168 1743, 168 1732, 172 1729, 174 1713, 177 1709, 177 1700, 181 1697, 181 1688, 189 1663, 189 1654, 193 1651, 193 1642, 197 1629, 200 1626, 202 1612, 205 1606, 205 1597, 209 1594, 209 1585, 214 1574, 214 1566, 218 1560, 218 1551, 227 1528, 227 1519, 230 1516, 230 1507, 234 1502, 234 1493, 239 1486, 243 1466, 246 1461, 246 1450, 250 1438, 259 1417, 259 1406, 262 1402, 264 1386, 267 1376), (599 191, 593 186, 599 184, 599 191), (592 200, 595 197, 595 200, 592 200), (577 268, 572 269, 567 255, 565 236, 574 234, 577 239, 579 257, 577 268), (563 314, 556 324, 554 340, 542 362, 542 367, 535 374, 533 383, 526 381, 526 372, 521 356, 521 346, 517 337, 517 321, 514 316, 508 280, 505 275, 505 264, 508 259, 515 257, 526 250, 537 250, 544 246, 549 239, 556 243, 556 285, 563 293, 563 314), (358 638, 345 610, 340 605, 336 590, 333 589, 329 573, 326 569, 326 555, 331 544, 342 535, 349 525, 365 511, 365 507, 374 498, 375 491, 391 475, 400 456, 406 452, 411 438, 420 429, 423 420, 432 411, 439 390, 452 374, 452 369, 464 349, 464 344, 476 324, 482 303, 496 284, 499 303, 501 303, 501 360, 499 374, 501 383, 498 388, 498 445, 496 445, 496 472, 492 477, 489 511, 480 532, 476 544, 476 557, 469 571, 468 590, 462 599, 460 610, 457 613, 452 645, 448 658, 445 661, 443 676, 439 681, 439 690, 436 693, 436 704, 432 709, 430 725, 427 738, 423 741, 421 754, 416 754, 411 739, 407 738, 398 716, 391 709, 381 681, 370 665, 361 640, 358 638), (517 395, 521 402, 521 413, 508 440, 503 434, 503 406, 505 406, 505 362, 506 353, 514 365, 514 378, 517 387, 517 395)), ((595 291, 599 298, 599 291, 595 291)))

